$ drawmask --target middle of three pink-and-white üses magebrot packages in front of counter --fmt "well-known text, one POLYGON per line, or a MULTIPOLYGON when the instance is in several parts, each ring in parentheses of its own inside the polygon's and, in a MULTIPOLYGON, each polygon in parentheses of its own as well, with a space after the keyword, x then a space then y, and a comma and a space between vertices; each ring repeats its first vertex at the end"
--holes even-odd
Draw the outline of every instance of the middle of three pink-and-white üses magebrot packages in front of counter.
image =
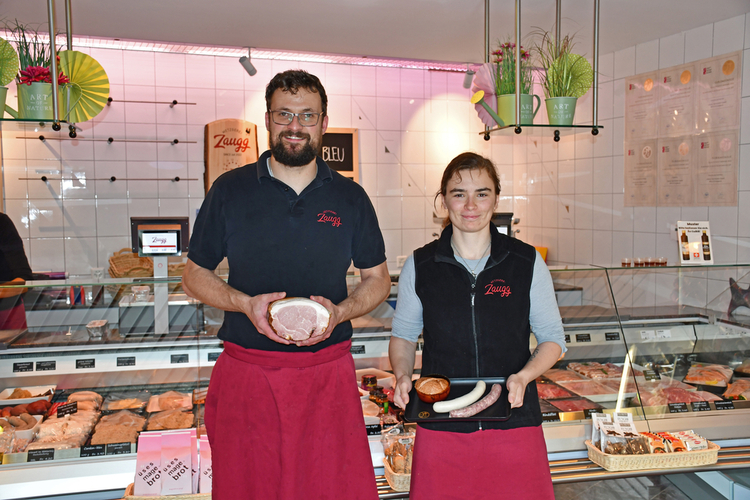
POLYGON ((190 433, 165 432, 161 436, 161 494, 189 495, 193 492, 190 433))

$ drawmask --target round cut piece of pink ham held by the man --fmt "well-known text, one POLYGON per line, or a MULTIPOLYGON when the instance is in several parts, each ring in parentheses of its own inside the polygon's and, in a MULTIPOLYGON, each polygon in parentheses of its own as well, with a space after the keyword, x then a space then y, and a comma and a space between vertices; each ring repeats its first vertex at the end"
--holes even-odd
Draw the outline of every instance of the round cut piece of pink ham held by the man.
POLYGON ((268 323, 279 337, 300 341, 321 335, 328 328, 331 313, 314 300, 290 297, 268 305, 268 323))

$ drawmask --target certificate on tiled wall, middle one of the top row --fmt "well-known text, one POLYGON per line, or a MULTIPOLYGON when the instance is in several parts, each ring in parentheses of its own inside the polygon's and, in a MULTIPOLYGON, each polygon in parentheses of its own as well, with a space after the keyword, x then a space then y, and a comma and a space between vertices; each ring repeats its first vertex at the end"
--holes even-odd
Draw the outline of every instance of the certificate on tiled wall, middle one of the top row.
POLYGON ((696 64, 659 71, 659 137, 695 131, 696 64))

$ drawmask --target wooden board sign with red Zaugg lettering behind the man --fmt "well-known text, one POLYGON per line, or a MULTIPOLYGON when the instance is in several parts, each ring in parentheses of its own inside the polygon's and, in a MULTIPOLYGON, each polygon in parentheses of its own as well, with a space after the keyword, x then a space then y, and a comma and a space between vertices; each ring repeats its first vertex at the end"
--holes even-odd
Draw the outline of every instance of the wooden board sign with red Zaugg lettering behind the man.
POLYGON ((216 120, 205 128, 206 193, 224 172, 258 161, 258 127, 235 118, 216 120))

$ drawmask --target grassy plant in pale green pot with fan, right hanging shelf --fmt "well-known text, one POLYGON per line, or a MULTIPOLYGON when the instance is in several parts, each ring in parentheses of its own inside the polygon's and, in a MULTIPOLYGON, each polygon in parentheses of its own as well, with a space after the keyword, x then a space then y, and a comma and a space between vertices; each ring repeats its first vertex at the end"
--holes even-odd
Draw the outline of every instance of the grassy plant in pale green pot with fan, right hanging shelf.
POLYGON ((573 53, 572 35, 565 35, 558 43, 549 32, 542 31, 540 40, 536 53, 549 123, 570 126, 576 102, 591 88, 594 72, 583 56, 573 53))

